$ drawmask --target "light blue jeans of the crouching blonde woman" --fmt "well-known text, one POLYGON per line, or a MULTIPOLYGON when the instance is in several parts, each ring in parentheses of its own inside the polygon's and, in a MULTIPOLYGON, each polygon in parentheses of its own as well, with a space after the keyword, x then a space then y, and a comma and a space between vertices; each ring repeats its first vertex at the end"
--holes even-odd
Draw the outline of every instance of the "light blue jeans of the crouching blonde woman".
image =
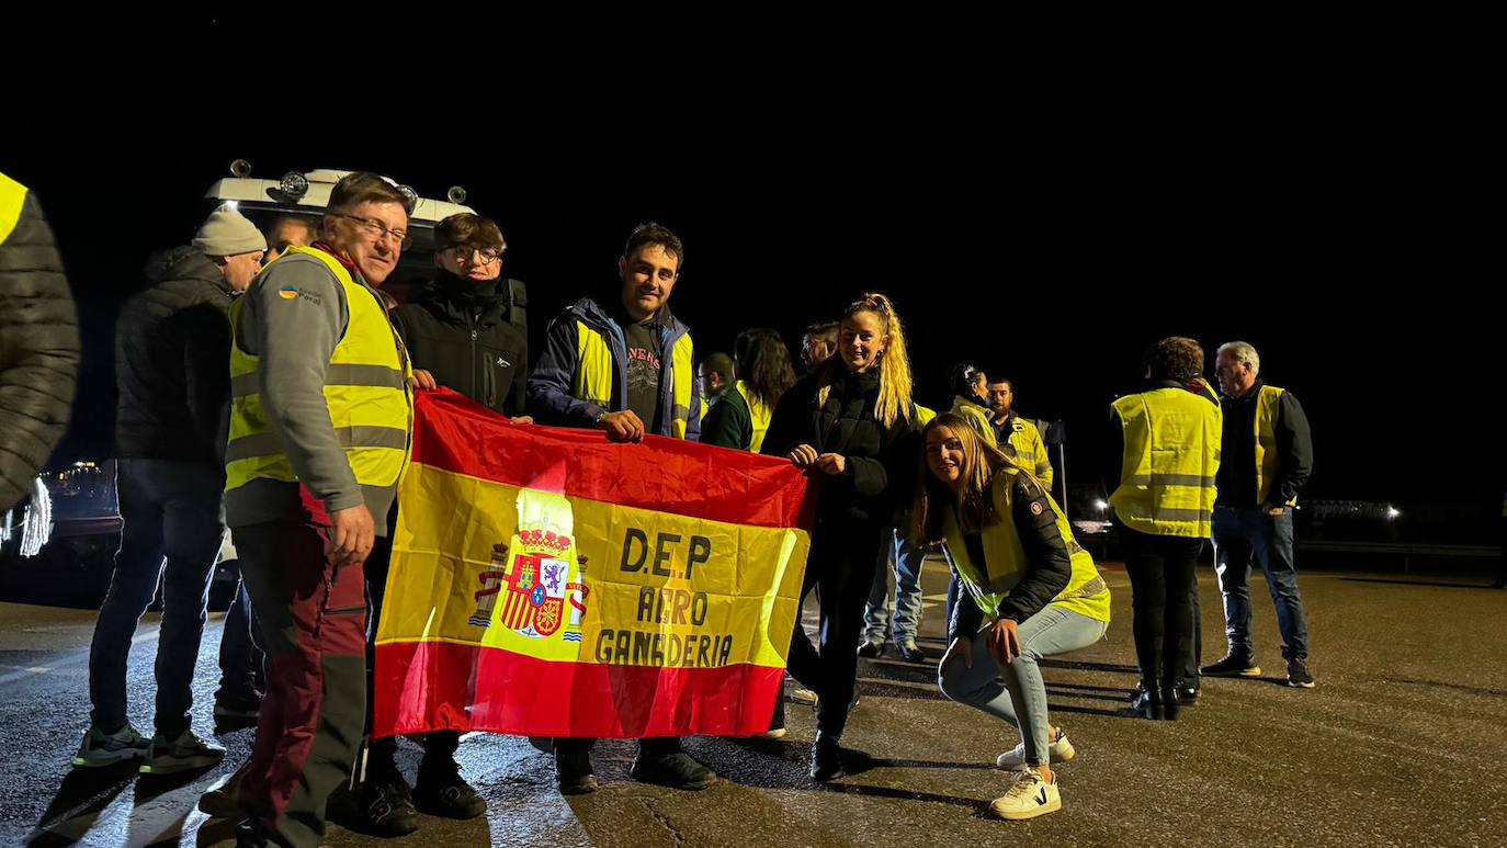
MULTIPOLYGON (((961 598, 963 602, 974 602, 961 598)), ((972 637, 974 666, 963 664, 958 657, 937 673, 937 685, 949 699, 975 706, 1020 729, 1026 746, 1028 765, 1047 764, 1050 744, 1047 728, 1046 682, 1041 679, 1043 657, 1056 657, 1088 648, 1103 639, 1108 622, 1047 604, 1041 612, 1020 622, 1020 655, 1007 666, 999 666, 989 654, 984 639, 989 628, 972 637), (1004 679, 1004 685, 1001 685, 1004 679)))

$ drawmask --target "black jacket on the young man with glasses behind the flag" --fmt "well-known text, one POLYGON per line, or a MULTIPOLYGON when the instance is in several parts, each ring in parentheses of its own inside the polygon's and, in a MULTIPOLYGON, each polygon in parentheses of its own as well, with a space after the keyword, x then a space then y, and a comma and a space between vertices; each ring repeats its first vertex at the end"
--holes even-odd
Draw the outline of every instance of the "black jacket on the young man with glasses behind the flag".
POLYGON ((529 339, 508 319, 508 280, 473 283, 437 271, 392 319, 413 368, 496 413, 521 416, 529 339))

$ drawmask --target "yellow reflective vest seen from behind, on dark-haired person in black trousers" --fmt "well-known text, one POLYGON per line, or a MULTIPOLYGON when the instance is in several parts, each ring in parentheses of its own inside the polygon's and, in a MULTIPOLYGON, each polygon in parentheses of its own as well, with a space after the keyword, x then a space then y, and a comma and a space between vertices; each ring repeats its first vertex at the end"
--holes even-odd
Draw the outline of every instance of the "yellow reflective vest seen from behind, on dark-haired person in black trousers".
POLYGON ((1132 530, 1206 539, 1219 470, 1219 407, 1185 390, 1156 389, 1114 402, 1124 428, 1120 487, 1109 496, 1132 530))

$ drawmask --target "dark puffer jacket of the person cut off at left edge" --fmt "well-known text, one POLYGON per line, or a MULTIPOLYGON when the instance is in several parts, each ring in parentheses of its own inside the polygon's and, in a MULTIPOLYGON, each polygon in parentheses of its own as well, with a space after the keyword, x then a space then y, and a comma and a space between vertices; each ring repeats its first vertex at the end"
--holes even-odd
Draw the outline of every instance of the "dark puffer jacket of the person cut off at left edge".
MULTIPOLYGON (((21 188, 11 182, 0 191, 15 197, 21 188)), ((0 511, 30 491, 63 437, 78 377, 78 313, 42 206, 26 193, 9 232, 8 223, 0 221, 0 511)))

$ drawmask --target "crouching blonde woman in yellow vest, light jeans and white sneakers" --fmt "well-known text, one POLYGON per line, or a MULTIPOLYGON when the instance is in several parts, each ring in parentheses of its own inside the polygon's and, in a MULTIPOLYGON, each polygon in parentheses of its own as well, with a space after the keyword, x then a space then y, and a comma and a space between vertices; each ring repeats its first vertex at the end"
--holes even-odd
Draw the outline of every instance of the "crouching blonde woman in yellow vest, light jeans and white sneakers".
POLYGON ((1087 648, 1109 627, 1109 587, 1041 482, 987 444, 961 416, 922 431, 912 505, 916 542, 942 542, 966 593, 948 625, 937 682, 949 699, 1016 724, 1020 744, 995 761, 1019 771, 990 809, 1026 819, 1062 807, 1052 762, 1073 759, 1047 720, 1037 663, 1087 648))

